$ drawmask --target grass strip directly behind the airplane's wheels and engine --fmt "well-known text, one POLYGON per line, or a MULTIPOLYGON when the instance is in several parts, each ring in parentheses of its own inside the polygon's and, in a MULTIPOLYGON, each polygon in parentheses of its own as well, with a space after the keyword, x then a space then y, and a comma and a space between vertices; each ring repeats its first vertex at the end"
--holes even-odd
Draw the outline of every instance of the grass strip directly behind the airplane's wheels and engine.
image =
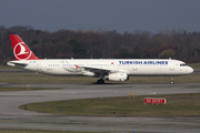
MULTIPOLYGON (((56 76, 36 73, 1 73, 1 83, 96 83, 98 78, 56 76)), ((200 72, 189 75, 173 76, 174 83, 199 83, 200 72)), ((170 83, 169 76, 130 76, 129 81, 106 83, 170 83)))

